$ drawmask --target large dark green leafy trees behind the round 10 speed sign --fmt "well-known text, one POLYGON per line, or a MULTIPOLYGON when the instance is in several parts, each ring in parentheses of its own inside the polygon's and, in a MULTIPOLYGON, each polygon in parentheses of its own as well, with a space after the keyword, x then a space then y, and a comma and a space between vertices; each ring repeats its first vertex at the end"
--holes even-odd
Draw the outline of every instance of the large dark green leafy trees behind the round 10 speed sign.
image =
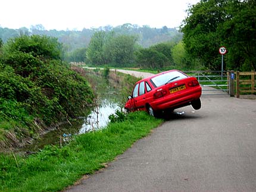
POLYGON ((186 52, 212 70, 220 70, 220 46, 227 69, 255 69, 256 6, 253 0, 201 0, 188 10, 182 32, 186 52))

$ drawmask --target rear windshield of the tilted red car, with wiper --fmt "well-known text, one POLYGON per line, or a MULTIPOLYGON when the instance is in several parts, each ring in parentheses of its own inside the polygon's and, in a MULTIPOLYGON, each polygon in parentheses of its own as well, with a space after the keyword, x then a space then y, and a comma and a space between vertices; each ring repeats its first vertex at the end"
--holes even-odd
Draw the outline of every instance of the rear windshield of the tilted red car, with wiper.
POLYGON ((163 84, 171 83, 187 77, 187 75, 180 73, 179 71, 170 71, 151 78, 151 82, 155 85, 155 87, 160 87, 163 86, 163 84))

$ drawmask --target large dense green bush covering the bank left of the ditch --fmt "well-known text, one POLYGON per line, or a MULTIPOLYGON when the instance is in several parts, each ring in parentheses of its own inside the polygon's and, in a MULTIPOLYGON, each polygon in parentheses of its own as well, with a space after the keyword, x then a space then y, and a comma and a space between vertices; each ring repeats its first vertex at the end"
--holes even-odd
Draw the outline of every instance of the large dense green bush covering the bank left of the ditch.
MULTIPOLYGON (((93 102, 88 81, 61 61, 57 39, 20 36, 8 40, 0 61, 0 141, 17 138, 84 115, 93 102), (38 122, 38 124, 36 123, 38 122)), ((0 142, 1 147, 1 142, 0 142)))

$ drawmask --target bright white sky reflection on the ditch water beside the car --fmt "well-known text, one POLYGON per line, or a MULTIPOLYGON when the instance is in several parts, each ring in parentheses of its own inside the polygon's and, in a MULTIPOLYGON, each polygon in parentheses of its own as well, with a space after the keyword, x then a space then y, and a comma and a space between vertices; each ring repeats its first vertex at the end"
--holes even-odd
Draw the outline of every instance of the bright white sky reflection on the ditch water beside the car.
POLYGON ((106 127, 110 121, 108 116, 114 114, 117 109, 120 109, 117 103, 110 102, 107 99, 102 100, 99 106, 96 106, 91 114, 85 118, 85 122, 79 130, 79 134, 106 127))

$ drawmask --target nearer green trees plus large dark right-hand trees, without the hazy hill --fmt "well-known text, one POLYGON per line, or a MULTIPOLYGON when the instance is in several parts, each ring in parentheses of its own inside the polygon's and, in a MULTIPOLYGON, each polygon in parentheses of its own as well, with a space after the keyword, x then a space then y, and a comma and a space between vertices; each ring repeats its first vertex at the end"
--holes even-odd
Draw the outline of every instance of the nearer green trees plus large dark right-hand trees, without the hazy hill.
MULTIPOLYGON (((225 46, 224 70, 255 70, 256 1, 201 0, 187 13, 180 26, 182 39, 143 47, 136 35, 102 30, 93 33, 83 59, 117 67, 221 70, 219 49, 225 46)), ((170 33, 164 27, 162 32, 170 33)))

